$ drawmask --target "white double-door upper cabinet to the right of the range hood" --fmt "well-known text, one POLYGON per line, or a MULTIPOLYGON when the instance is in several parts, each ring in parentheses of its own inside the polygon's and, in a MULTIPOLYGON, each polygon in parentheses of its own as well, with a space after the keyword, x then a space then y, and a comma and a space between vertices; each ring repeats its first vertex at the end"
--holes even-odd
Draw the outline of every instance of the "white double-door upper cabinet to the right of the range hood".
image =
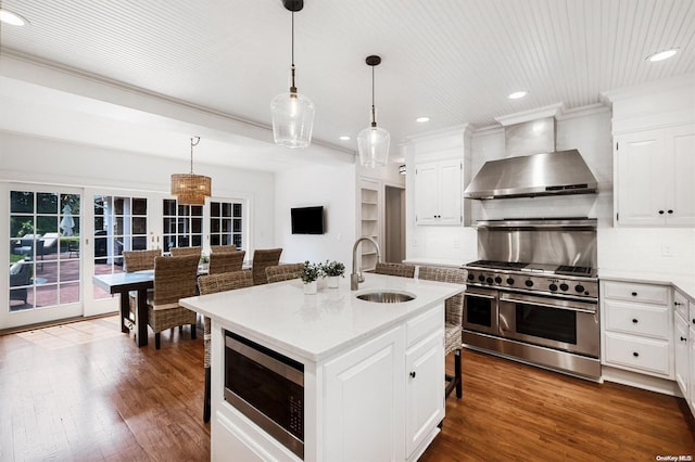
POLYGON ((695 127, 616 137, 616 219, 628 226, 695 226, 695 127))

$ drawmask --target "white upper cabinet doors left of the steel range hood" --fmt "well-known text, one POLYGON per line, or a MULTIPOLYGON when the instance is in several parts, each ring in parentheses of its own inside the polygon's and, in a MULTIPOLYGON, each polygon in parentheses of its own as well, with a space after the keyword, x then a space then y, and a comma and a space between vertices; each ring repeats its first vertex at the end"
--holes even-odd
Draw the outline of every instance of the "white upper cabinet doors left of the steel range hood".
POLYGON ((463 214, 460 161, 440 161, 415 166, 415 222, 460 224, 463 214))

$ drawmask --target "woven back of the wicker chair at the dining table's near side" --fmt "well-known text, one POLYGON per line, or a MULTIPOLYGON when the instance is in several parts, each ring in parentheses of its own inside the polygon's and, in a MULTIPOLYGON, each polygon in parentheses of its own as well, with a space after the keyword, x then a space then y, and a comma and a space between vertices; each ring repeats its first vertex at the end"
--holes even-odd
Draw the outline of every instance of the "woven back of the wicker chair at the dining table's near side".
POLYGON ((154 305, 178 304, 195 295, 198 255, 154 258, 154 305))

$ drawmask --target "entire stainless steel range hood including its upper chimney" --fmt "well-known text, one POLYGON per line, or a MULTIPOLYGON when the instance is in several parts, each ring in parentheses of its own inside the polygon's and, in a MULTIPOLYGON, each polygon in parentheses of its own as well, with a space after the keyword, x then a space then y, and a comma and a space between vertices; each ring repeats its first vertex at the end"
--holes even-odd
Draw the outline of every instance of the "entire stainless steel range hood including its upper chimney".
POLYGON ((555 151, 555 126, 554 117, 506 126, 506 158, 486 162, 466 188, 464 197, 595 193, 596 178, 579 151, 555 151))

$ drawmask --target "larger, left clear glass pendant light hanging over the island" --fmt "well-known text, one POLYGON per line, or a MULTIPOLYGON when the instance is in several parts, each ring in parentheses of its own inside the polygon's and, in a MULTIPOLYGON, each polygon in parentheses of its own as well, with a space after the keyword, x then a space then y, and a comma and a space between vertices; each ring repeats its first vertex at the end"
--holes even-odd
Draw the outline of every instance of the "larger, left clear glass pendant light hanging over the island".
POLYGON ((294 86, 294 12, 304 8, 304 0, 282 0, 282 4, 292 13, 292 85, 289 93, 280 93, 270 101, 270 114, 275 144, 293 150, 306 147, 312 142, 314 103, 298 93, 294 86))

